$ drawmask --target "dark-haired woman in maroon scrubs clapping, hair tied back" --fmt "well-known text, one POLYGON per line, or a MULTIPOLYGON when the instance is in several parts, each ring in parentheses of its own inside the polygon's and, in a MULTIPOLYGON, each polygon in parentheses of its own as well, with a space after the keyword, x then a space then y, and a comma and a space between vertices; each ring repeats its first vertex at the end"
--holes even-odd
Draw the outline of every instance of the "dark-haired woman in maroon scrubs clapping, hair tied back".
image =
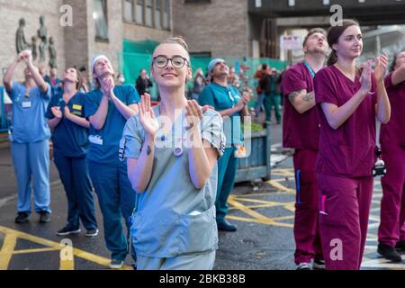
POLYGON ((320 189, 320 238, 327 269, 360 268, 374 187, 375 117, 390 121, 383 81, 387 58, 356 67, 363 50, 358 23, 331 27, 328 67, 314 78, 320 115, 317 179, 320 189))

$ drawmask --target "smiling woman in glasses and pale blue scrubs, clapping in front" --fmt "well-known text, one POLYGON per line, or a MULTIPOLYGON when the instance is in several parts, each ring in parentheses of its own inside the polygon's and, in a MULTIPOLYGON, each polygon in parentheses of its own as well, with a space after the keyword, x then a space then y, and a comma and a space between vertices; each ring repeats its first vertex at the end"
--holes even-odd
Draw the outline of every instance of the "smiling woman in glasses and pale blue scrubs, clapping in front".
POLYGON ((121 139, 130 183, 139 195, 130 229, 139 270, 209 270, 218 248, 217 159, 225 148, 222 118, 185 98, 192 77, 184 40, 157 46, 152 76, 161 103, 142 96, 121 139))

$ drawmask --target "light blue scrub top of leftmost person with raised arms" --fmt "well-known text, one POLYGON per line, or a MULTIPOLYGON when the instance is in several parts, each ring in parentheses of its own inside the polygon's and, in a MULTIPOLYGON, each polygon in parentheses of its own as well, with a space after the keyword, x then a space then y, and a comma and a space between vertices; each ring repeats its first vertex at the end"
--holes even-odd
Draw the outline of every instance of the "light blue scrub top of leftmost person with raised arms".
POLYGON ((42 93, 40 87, 34 86, 28 97, 25 96, 27 88, 20 83, 14 83, 12 90, 7 91, 13 101, 13 120, 11 140, 15 143, 34 143, 50 138, 47 112, 51 88, 48 85, 47 93, 42 93))

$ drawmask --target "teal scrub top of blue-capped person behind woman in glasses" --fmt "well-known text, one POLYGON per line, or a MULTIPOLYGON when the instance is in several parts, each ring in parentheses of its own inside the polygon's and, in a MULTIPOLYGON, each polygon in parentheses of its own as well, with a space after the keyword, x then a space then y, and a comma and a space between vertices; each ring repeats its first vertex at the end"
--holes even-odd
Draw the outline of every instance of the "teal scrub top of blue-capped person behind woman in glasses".
MULTIPOLYGON (((210 105, 216 111, 227 110, 234 107, 241 99, 241 94, 235 87, 224 87, 212 82, 202 90, 198 97, 200 105, 210 105)), ((242 143, 242 130, 240 112, 224 119, 224 131, 228 141, 228 147, 242 143)))

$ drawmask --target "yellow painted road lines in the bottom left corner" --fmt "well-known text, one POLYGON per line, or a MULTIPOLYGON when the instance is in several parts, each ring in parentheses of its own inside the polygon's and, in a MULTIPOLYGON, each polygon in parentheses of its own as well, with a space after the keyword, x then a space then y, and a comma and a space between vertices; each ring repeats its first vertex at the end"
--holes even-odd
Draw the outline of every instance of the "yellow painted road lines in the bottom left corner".
MULTIPOLYGON (((54 242, 54 241, 50 241, 45 238, 33 236, 31 234, 23 233, 21 231, 17 231, 14 229, 8 229, 3 226, 0 226, 0 232, 5 234, 3 249, 0 252, 0 269, 2 269, 2 268, 7 269, 11 255, 14 254, 13 252, 14 252, 14 247, 15 247, 17 238, 22 238, 22 239, 25 239, 25 240, 28 240, 28 241, 31 241, 34 243, 38 243, 40 245, 47 246, 54 250, 61 250, 63 248, 60 246, 60 244, 58 242, 54 242), (8 238, 8 242, 7 242, 7 238, 8 238), (13 240, 14 240, 14 242, 13 242, 13 240), (5 245, 6 243, 8 243, 8 245, 5 245), (8 261, 7 261, 7 259, 8 259, 8 261)), ((100 266, 108 267, 108 265, 110 263, 110 259, 100 257, 100 256, 85 252, 84 250, 77 249, 77 248, 73 248, 73 255, 75 257, 80 257, 85 260, 94 262, 95 264, 98 264, 100 266)), ((63 267, 65 267, 65 266, 63 266, 63 267)), ((123 266, 122 270, 132 270, 132 268, 130 266, 123 266)))

